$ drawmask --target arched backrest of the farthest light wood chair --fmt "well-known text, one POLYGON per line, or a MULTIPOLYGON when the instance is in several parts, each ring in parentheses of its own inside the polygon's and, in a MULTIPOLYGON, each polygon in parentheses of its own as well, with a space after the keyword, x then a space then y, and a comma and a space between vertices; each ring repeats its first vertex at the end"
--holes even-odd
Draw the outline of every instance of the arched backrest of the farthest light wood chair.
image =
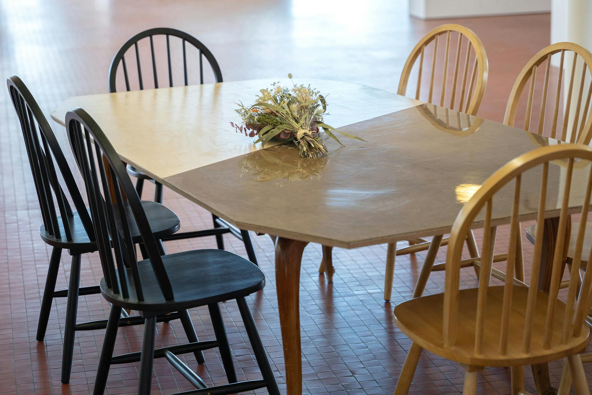
POLYGON ((457 24, 445 24, 423 36, 405 62, 399 81, 398 94, 407 94, 409 78, 418 57, 417 84, 414 92, 417 100, 427 101, 452 110, 457 109, 471 115, 477 114, 487 85, 488 63, 485 48, 472 30, 457 24), (439 49, 443 46, 439 44, 441 41, 446 41, 443 49, 439 49), (440 52, 444 51, 443 59, 440 61, 438 61, 439 50, 440 52), (454 63, 451 62, 451 52, 456 53, 454 63), (424 67, 424 57, 429 55, 432 56, 432 66, 427 73, 427 66, 424 67), (436 75, 440 75, 436 69, 442 70, 440 84, 435 82, 436 75), (427 78, 429 78, 429 90, 427 97, 422 98, 422 80, 427 78), (452 84, 450 84, 451 82, 452 84), (439 94, 435 96, 436 84, 440 86, 439 94))

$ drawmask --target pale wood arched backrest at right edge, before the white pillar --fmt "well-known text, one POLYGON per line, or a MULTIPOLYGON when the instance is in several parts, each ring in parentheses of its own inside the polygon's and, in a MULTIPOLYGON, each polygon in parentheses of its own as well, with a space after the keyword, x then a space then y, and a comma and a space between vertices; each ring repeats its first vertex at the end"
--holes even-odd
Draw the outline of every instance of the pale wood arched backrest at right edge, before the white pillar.
MULTIPOLYGON (((548 104, 548 93, 549 93, 549 81, 550 81, 550 70, 551 70, 551 57, 556 54, 561 54, 561 59, 559 60, 559 74, 557 78, 557 86, 555 92, 555 103, 554 103, 554 111, 552 113, 552 121, 551 121, 551 137, 554 139, 567 141, 568 139, 568 124, 570 118, 572 118, 572 129, 570 134, 570 143, 581 143, 581 144, 588 144, 592 139, 592 111, 590 111, 590 96, 592 95, 592 54, 585 49, 584 47, 579 46, 578 44, 574 43, 556 43, 551 44, 548 47, 540 50, 535 56, 530 59, 530 61, 526 64, 526 66, 522 69, 514 86, 510 92, 510 98, 508 99, 508 104, 506 107, 506 115, 504 116, 504 124, 509 126, 514 126, 514 122, 516 121, 516 114, 519 108, 519 101, 520 97, 524 93, 524 89, 526 87, 527 82, 530 81, 529 89, 528 89, 528 97, 526 103, 526 111, 525 111, 525 123, 524 129, 527 131, 531 131, 532 127, 532 110, 533 110, 533 97, 535 95, 535 85, 536 85, 536 73, 537 69, 543 62, 546 63, 545 66, 545 78, 543 82, 543 91, 540 99, 540 109, 539 109, 539 117, 538 117, 538 130, 536 133, 542 134, 543 129, 545 127, 545 116, 546 116, 546 108, 548 104), (567 54, 567 52, 572 52, 573 54, 567 54), (578 57, 583 60, 581 62, 581 69, 577 69, 577 60, 578 57), (567 99, 565 100, 565 107, 564 107, 564 120, 563 125, 561 128, 561 134, 558 135, 558 118, 559 118, 559 102, 561 101, 561 91, 562 91, 562 82, 564 82, 564 63, 565 61, 571 61, 571 73, 570 73, 570 82, 567 88, 567 91, 564 93, 567 94, 567 99), (574 93, 574 78, 580 79, 580 86, 578 88, 578 98, 577 102, 575 103, 575 107, 571 108, 572 106, 572 94, 574 93), (581 105, 583 101, 583 92, 584 92, 584 85, 585 81, 590 79, 590 85, 588 86, 587 95, 585 95, 585 102, 583 111, 581 111, 581 105), (574 116, 571 117, 571 112, 574 113, 574 116), (580 117, 581 116, 581 117, 580 117), (565 120, 567 117, 567 121, 565 120), (579 124, 579 127, 578 127, 579 124)), ((567 76, 565 76, 565 81, 567 81, 567 76)), ((536 118, 535 118, 536 119, 536 118)), ((535 131, 533 130, 533 133, 535 131)))

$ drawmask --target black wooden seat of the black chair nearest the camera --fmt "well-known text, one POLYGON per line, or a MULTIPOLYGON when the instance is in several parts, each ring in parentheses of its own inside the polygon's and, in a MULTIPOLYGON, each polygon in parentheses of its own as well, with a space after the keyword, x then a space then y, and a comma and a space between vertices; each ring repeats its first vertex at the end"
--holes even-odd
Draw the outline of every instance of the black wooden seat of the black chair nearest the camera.
POLYGON ((138 301, 133 276, 127 275, 130 296, 114 294, 101 280, 101 293, 114 306, 139 311, 177 311, 245 297, 263 289, 265 275, 252 262, 218 249, 186 251, 162 256, 175 300, 163 297, 150 259, 138 262, 144 301, 138 301))

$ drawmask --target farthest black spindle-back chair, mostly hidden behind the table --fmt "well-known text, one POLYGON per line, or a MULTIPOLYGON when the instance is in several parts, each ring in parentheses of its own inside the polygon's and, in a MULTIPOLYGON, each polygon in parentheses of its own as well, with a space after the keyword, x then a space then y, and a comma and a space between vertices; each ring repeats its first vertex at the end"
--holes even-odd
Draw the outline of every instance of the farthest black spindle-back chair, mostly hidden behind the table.
MULTIPOLYGON (((183 85, 189 84, 189 72, 188 70, 195 70, 197 68, 200 73, 200 84, 204 84, 204 57, 208 63, 210 63, 212 72, 214 74, 214 81, 215 82, 222 82, 222 72, 220 71, 220 66, 218 66, 218 62, 216 61, 214 55, 210 52, 209 49, 197 38, 191 36, 191 34, 185 33, 184 31, 168 28, 168 27, 157 27, 152 28, 149 30, 144 30, 135 36, 131 37, 129 40, 126 41, 123 46, 121 46, 120 50, 115 54, 113 60, 111 62, 111 67, 109 69, 109 92, 117 92, 117 75, 119 70, 123 72, 124 82, 126 91, 132 90, 132 85, 137 86, 139 89, 147 89, 150 88, 159 88, 164 86, 168 86, 172 88, 173 86, 178 86, 179 84, 175 84, 175 82, 180 82, 181 79, 175 80, 175 65, 173 64, 172 60, 172 49, 174 48, 182 49, 182 59, 183 59, 183 85), (158 72, 157 72, 157 52, 155 51, 155 37, 156 36, 165 36, 166 40, 166 71, 168 76, 168 84, 162 84, 162 79, 159 84, 158 79, 158 72), (141 49, 139 46, 139 42, 142 40, 149 40, 150 43, 150 65, 144 65, 144 74, 142 74, 142 62, 141 62, 141 49), (180 43, 175 43, 174 41, 181 41, 180 43), (188 67, 188 52, 191 47, 194 47, 198 50, 198 65, 190 65, 188 67), (128 54, 130 53, 130 54, 128 54), (134 58, 132 63, 134 64, 133 67, 128 68, 128 64, 126 63, 126 54, 129 57, 134 58), (133 69, 136 69, 137 78, 133 78, 131 76, 133 69), (152 73, 152 78, 149 78, 150 73, 152 73), (151 81, 149 81, 151 80, 151 81), (137 82, 137 84, 136 84, 137 82)), ((174 55, 174 53, 173 53, 174 55)), ((180 70, 180 67, 178 68, 180 70)), ((120 81, 120 86, 121 84, 120 81)), ((144 174, 143 172, 139 171, 138 169, 134 168, 131 165, 126 166, 127 172, 129 175, 136 177, 136 191, 138 195, 142 196, 142 191, 144 189, 144 180, 154 182, 155 184, 155 197, 154 200, 158 203, 162 203, 162 184, 152 179, 149 175, 144 174)), ((253 242, 249 235, 249 232, 246 230, 240 230, 236 227, 232 226, 231 224, 227 223, 221 218, 214 216, 212 214, 214 228, 213 230, 198 230, 194 232, 179 232, 175 235, 171 235, 169 237, 164 237, 163 240, 179 240, 179 239, 188 239, 192 237, 204 237, 204 236, 212 236, 216 237, 216 242, 219 249, 224 249, 224 240, 222 235, 224 233, 232 233, 233 236, 236 236, 238 239, 242 240, 244 243, 244 248, 246 249, 247 256, 249 256, 249 260, 257 265, 257 256, 255 255, 255 249, 253 248, 253 242)))

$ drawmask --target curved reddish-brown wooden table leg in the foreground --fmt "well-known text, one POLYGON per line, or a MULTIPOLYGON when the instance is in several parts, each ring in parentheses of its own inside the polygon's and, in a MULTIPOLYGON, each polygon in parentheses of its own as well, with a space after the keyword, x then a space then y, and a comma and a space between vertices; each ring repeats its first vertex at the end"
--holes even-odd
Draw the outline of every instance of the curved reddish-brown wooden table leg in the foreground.
POLYGON ((282 330, 288 395, 302 394, 300 349, 300 263, 307 242, 278 237, 275 242, 275 283, 282 330))

